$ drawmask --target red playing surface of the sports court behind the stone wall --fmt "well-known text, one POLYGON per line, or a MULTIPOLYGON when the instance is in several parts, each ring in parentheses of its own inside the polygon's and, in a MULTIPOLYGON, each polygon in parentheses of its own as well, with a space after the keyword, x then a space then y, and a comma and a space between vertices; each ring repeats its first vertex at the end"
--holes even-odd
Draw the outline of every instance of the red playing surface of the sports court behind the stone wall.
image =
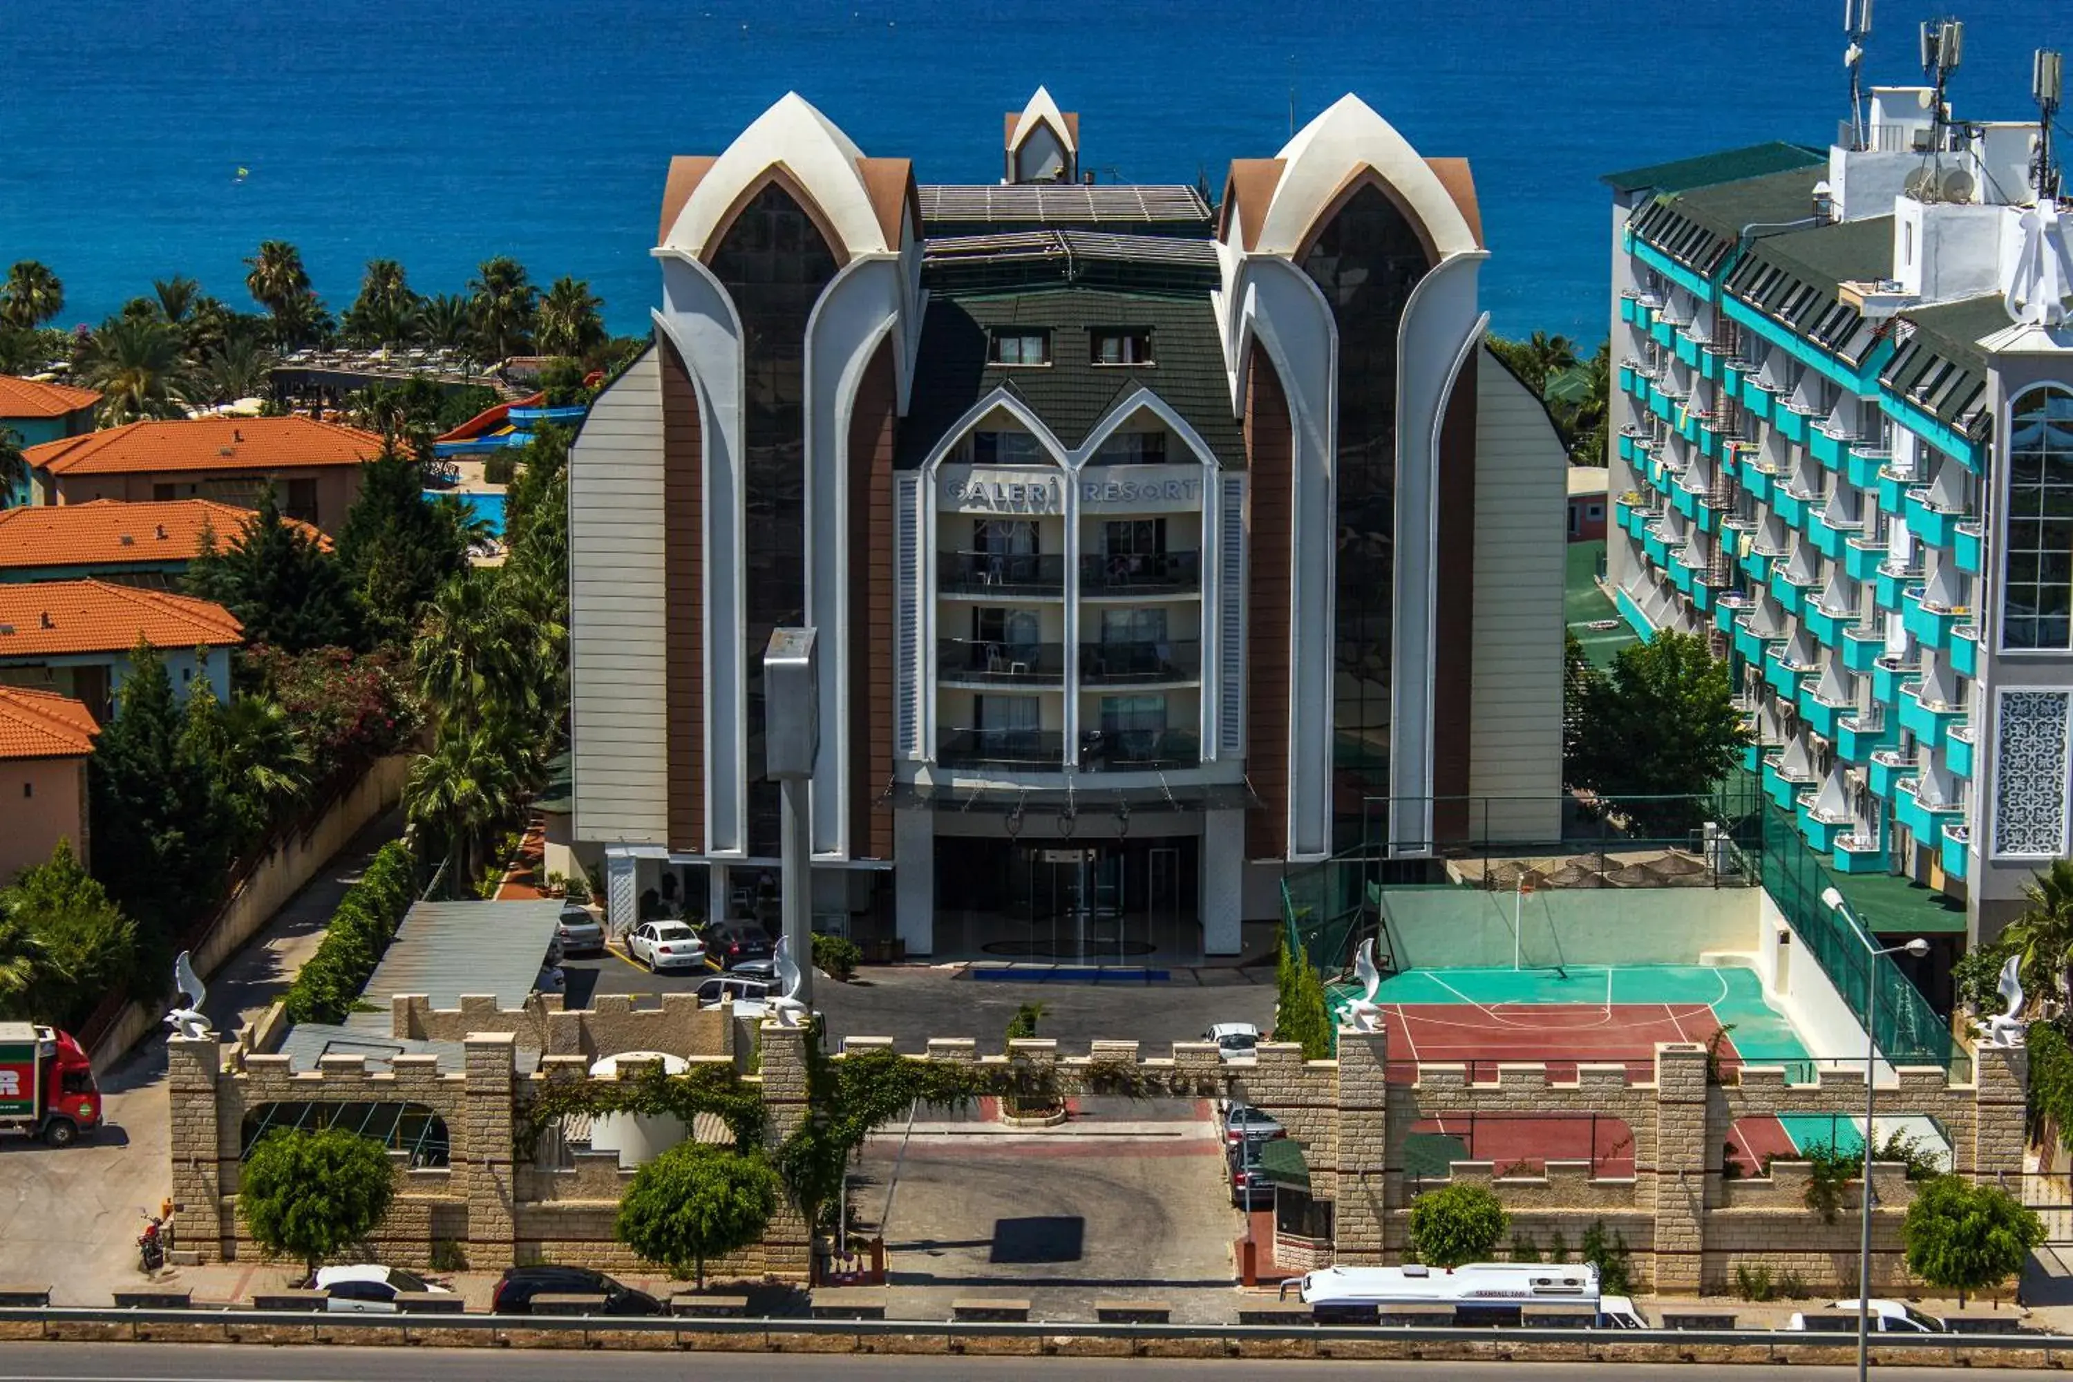
MULTIPOLYGON (((1501 1063, 1549 1067, 1549 1079, 1575 1079, 1578 1065, 1621 1065, 1631 1082, 1654 1082, 1658 1042, 1712 1042, 1719 1038, 1723 1071, 1741 1065, 1731 1036, 1721 1036, 1712 1007, 1698 1003, 1391 1003, 1389 1082, 1412 1084, 1418 1065, 1466 1065, 1476 1084, 1495 1082, 1501 1063)), ((1594 1115, 1449 1115, 1424 1119, 1414 1133, 1443 1133, 1461 1142, 1468 1160, 1495 1162, 1540 1175, 1551 1160, 1588 1160, 1600 1177, 1629 1177, 1636 1167, 1634 1133, 1621 1119, 1594 1115)), ((1793 1142, 1772 1119, 1741 1119, 1723 1148, 1743 1175, 1756 1175, 1766 1156, 1791 1156, 1793 1142)))

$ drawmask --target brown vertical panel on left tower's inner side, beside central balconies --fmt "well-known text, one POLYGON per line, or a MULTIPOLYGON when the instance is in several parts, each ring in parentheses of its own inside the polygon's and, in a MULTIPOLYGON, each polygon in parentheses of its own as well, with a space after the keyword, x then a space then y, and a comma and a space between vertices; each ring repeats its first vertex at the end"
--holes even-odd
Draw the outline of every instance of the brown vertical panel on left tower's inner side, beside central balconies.
POLYGON ((879 344, 850 410, 850 854, 889 860, 893 814, 893 441, 900 394, 879 344))

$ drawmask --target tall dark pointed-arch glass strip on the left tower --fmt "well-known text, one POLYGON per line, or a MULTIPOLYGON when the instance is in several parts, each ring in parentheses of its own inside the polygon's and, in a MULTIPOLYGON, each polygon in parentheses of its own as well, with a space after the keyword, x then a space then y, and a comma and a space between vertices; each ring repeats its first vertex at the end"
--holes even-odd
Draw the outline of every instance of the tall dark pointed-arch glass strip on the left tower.
POLYGON ((779 852, 779 791, 763 758, 763 649, 806 620, 806 317, 835 276, 813 218, 771 182, 736 218, 713 276, 742 317, 742 566, 748 630, 748 852, 779 852))

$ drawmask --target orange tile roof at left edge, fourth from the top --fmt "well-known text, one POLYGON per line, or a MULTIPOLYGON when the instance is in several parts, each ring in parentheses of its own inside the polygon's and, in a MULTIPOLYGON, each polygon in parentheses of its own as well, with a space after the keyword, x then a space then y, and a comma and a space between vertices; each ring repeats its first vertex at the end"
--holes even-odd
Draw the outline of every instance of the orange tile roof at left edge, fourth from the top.
POLYGON ((137 638, 153 649, 224 646, 243 632, 228 609, 189 595, 106 580, 0 584, 0 659, 126 653, 137 638))

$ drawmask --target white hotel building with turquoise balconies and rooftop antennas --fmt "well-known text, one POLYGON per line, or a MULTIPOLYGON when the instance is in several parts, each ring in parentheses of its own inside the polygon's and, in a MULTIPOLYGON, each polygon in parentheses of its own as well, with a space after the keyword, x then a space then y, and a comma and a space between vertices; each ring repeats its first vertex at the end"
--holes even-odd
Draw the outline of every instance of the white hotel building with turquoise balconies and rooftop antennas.
POLYGON ((1926 883, 1971 939, 2069 852, 2073 259, 2038 143, 1882 87, 1826 151, 1607 178, 1615 599, 1733 661, 1828 868, 1926 883))

